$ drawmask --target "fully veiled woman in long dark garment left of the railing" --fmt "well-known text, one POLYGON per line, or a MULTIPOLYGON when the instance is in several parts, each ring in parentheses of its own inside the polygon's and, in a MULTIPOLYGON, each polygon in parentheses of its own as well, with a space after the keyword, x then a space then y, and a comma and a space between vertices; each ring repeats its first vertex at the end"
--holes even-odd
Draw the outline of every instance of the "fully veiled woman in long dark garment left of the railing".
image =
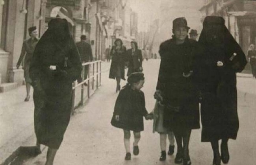
POLYGON ((35 134, 48 146, 45 165, 52 165, 69 124, 72 82, 82 70, 78 50, 65 19, 52 19, 35 48, 30 66, 34 87, 35 134))

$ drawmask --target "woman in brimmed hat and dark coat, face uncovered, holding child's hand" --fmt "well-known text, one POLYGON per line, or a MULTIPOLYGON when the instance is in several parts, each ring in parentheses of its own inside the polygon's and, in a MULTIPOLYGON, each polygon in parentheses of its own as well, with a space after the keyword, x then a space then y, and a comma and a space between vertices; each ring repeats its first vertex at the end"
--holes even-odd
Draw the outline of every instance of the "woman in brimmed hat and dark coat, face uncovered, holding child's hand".
POLYGON ((198 43, 188 39, 186 19, 173 21, 173 38, 160 45, 161 63, 156 94, 165 105, 163 126, 173 130, 177 154, 175 163, 190 165, 189 139, 192 129, 200 128, 199 96, 194 80, 198 43), (183 142, 183 145, 182 145, 183 142))

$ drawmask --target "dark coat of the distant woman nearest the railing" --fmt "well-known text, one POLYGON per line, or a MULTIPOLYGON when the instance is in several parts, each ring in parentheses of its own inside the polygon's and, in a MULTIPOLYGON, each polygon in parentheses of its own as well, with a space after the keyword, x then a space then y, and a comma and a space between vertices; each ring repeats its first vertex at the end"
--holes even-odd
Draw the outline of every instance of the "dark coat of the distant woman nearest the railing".
POLYGON ((127 61, 126 56, 126 47, 121 46, 120 50, 116 50, 116 46, 112 46, 110 51, 110 56, 112 57, 110 70, 109 70, 109 78, 115 79, 117 72, 121 72, 121 79, 125 80, 124 78, 124 67, 125 62, 127 61))

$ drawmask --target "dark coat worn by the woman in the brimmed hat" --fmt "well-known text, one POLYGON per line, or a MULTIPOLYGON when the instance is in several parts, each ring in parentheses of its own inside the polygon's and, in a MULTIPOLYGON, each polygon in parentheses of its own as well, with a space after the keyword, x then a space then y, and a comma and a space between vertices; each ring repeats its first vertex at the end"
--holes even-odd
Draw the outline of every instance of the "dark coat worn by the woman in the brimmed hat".
POLYGON ((186 39, 184 44, 176 44, 175 38, 160 45, 161 64, 156 89, 163 94, 163 125, 191 129, 200 128, 198 90, 194 82, 195 65, 200 49, 196 41, 186 39), (193 70, 190 77, 183 73, 193 70), (180 107, 179 113, 173 113, 167 106, 180 107))

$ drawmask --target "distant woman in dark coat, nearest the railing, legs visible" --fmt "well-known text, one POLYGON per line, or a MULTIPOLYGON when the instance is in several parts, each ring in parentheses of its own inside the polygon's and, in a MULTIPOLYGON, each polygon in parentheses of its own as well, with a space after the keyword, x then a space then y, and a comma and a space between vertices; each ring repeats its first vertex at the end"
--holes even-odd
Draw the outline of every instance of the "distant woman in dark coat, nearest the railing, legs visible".
POLYGON ((117 81, 116 92, 120 91, 120 81, 125 80, 124 78, 124 66, 127 61, 126 47, 122 45, 121 39, 115 40, 115 46, 111 48, 110 56, 112 57, 109 78, 117 81))

